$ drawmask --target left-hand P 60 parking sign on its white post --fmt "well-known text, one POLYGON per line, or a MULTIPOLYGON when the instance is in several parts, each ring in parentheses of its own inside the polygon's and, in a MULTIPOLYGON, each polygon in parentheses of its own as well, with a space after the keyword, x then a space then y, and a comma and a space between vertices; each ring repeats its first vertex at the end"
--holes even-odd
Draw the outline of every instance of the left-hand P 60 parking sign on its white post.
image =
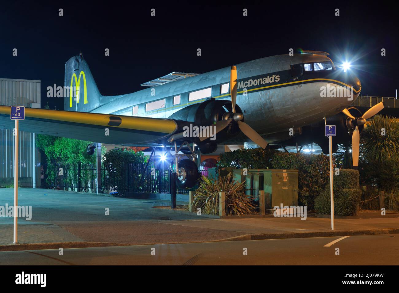
POLYGON ((11 106, 11 120, 15 120, 14 127, 14 240, 13 243, 18 243, 18 134, 19 134, 19 121, 25 119, 25 107, 11 106))

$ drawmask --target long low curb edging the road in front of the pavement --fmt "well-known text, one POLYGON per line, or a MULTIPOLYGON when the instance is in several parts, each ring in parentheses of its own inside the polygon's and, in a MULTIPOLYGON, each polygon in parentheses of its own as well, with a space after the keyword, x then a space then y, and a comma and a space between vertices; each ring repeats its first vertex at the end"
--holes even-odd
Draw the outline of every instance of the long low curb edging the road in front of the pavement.
POLYGON ((0 245, 0 252, 21 251, 21 250, 45 250, 58 248, 89 248, 89 247, 108 247, 108 246, 142 246, 142 245, 161 245, 161 244, 187 244, 187 243, 207 243, 207 242, 226 242, 226 241, 249 241, 249 240, 268 240, 268 239, 288 239, 288 238, 313 238, 313 237, 332 237, 332 236, 358 236, 358 235, 381 235, 399 234, 399 228, 374 229, 374 230, 340 230, 340 231, 320 231, 320 232, 300 232, 300 233, 274 233, 274 234, 244 234, 240 236, 196 242, 165 242, 165 243, 113 243, 113 242, 49 242, 49 243, 28 243, 28 244, 8 244, 0 245))

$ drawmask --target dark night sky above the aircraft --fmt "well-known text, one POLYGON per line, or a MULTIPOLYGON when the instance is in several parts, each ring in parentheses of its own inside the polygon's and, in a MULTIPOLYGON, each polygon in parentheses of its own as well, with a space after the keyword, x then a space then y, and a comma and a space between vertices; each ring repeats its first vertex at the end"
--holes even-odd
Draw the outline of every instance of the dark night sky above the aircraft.
POLYGON ((172 71, 204 73, 293 48, 294 53, 326 51, 336 65, 353 60, 363 95, 394 96, 398 88, 398 16, 393 7, 365 2, 97 3, 2 4, 0 77, 41 80, 42 107, 48 101, 51 108, 62 109, 62 98, 47 98, 46 88, 63 86, 65 62, 80 51, 101 94, 116 95, 143 89, 140 83, 172 71), (62 17, 59 8, 64 10, 62 17), (155 17, 150 16, 151 8, 155 17), (243 8, 248 9, 246 17, 243 8), (18 49, 17 57, 12 56, 13 48, 18 49), (105 48, 110 49, 109 57, 105 48), (381 48, 386 49, 384 57, 381 48))

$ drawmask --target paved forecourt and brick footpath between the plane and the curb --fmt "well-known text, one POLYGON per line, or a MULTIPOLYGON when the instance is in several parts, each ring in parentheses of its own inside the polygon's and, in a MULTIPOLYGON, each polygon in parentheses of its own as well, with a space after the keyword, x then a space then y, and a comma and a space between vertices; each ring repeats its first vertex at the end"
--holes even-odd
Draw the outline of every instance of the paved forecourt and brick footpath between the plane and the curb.
MULTIPOLYGON (((0 250, 399 233, 399 218, 336 219, 333 232, 326 218, 209 219, 152 208, 170 204, 157 200, 28 188, 19 194, 19 205, 32 206, 32 219, 18 220, 18 242, 29 245, 12 245, 13 218, 0 217, 0 250)), ((5 203, 12 205, 13 189, 0 189, 5 203)))

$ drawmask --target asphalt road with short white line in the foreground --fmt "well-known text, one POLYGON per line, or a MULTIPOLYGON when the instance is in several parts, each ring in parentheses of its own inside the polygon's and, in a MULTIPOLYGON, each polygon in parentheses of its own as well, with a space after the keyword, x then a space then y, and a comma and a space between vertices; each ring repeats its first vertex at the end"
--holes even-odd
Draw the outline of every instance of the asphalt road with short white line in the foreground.
POLYGON ((398 265, 399 234, 12 251, 0 264, 398 265))

